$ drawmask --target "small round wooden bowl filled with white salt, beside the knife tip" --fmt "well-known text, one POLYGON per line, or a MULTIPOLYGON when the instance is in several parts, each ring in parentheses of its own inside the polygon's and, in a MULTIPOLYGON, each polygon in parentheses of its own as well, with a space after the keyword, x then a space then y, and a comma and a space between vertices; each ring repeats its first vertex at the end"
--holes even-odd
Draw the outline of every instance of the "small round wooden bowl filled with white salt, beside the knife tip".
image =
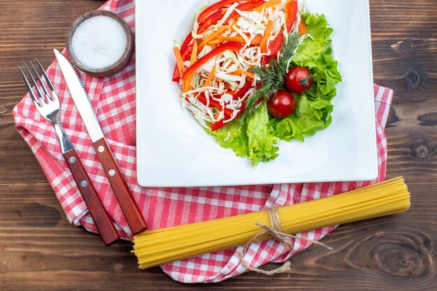
POLYGON ((105 77, 123 69, 133 54, 133 38, 126 22, 106 10, 79 17, 67 36, 68 55, 89 75, 105 77))

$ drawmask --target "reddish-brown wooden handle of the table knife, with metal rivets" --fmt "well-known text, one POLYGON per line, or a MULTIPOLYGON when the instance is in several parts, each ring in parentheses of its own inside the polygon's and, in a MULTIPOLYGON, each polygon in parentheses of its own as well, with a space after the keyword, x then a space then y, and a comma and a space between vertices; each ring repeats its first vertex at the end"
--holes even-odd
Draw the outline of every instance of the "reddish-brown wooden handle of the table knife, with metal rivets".
POLYGON ((126 221, 131 228, 133 234, 138 234, 147 230, 145 218, 142 216, 140 208, 138 208, 135 199, 129 191, 128 184, 121 175, 117 161, 105 138, 93 143, 96 154, 103 165, 106 176, 110 181, 115 196, 120 204, 121 211, 123 211, 126 221))

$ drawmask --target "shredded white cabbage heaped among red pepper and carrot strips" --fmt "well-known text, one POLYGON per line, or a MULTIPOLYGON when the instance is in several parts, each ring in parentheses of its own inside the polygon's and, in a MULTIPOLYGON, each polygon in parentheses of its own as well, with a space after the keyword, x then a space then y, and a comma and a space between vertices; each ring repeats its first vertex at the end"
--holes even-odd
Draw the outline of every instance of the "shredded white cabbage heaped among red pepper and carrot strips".
MULTIPOLYGON (((267 0, 266 0, 267 1, 267 0)), ((297 19, 292 27, 292 31, 299 29, 301 21, 301 13, 304 12, 304 1, 298 1, 297 19)), ((202 33, 198 33, 200 25, 198 17, 206 6, 203 6, 195 17, 192 35, 198 43, 205 38, 208 38, 214 31, 228 25, 228 29, 221 33, 221 36, 239 38, 243 48, 239 52, 226 50, 225 52, 216 55, 202 64, 191 76, 190 88, 188 91, 179 94, 182 107, 190 110, 193 117, 205 128, 209 128, 209 124, 221 121, 224 124, 236 119, 242 112, 244 102, 255 91, 255 84, 260 80, 257 75, 251 75, 251 78, 246 75, 249 69, 255 66, 261 66, 262 58, 271 54, 269 46, 279 33, 283 31, 283 36, 288 38, 286 31, 286 13, 285 5, 287 0, 281 0, 281 3, 269 8, 263 8, 261 12, 255 10, 243 11, 237 7, 246 3, 238 1, 228 7, 225 14, 216 24, 212 24, 202 33), (238 13, 237 17, 230 17, 234 12, 238 13), (265 36, 267 22, 273 22, 272 33, 265 36), (253 40, 258 36, 258 39, 267 37, 267 50, 262 52, 261 48, 252 44, 253 40), (210 76, 215 66, 214 75, 210 76), (254 78, 254 80, 252 79, 254 78), (209 85, 205 87, 205 83, 209 85), (249 83, 248 83, 249 82, 249 83), (250 87, 248 89, 248 87, 250 87), (239 91, 244 90, 244 91, 239 91)), ((301 43, 304 38, 312 38, 308 33, 302 36, 301 43)), ((202 50, 198 52, 196 59, 204 57, 211 52, 214 47, 226 40, 220 38, 212 38, 202 50)), ((175 45, 180 47, 180 43, 175 41, 175 45)), ((290 64, 290 61, 288 65, 290 64)), ((189 68, 190 61, 184 61, 184 66, 189 68)), ((179 82, 181 88, 185 88, 182 80, 179 82)))

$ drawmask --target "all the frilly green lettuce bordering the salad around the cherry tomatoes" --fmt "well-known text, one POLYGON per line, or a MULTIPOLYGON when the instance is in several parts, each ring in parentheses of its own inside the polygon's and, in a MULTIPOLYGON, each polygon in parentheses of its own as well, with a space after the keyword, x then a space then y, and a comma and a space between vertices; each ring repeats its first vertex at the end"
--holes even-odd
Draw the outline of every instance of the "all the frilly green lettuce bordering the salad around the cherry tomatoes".
POLYGON ((341 82, 337 61, 332 59, 330 36, 332 29, 324 15, 302 15, 311 38, 300 45, 292 66, 304 66, 311 70, 313 86, 305 94, 294 95, 295 112, 285 119, 275 119, 264 103, 244 124, 232 121, 227 126, 208 133, 214 135, 221 147, 235 151, 237 156, 248 156, 253 165, 273 160, 278 156, 277 139, 300 140, 316 134, 332 123, 332 98, 335 85, 341 82))

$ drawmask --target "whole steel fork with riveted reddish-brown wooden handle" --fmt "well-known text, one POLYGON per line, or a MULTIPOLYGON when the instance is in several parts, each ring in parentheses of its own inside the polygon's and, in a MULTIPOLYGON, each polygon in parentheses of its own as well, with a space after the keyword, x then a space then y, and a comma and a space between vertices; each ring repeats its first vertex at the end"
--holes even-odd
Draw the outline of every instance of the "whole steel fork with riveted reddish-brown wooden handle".
POLYGON ((38 97, 34 93, 34 90, 32 89, 29 80, 27 80, 26 75, 20 67, 20 73, 23 77, 24 83, 26 83, 27 90, 29 91, 31 98, 34 101, 38 112, 40 112, 40 114, 45 117, 47 121, 50 121, 50 123, 54 126, 54 131, 57 134, 59 144, 61 144, 62 154, 64 155, 68 167, 71 170, 71 174, 73 174, 80 193, 82 193, 82 197, 84 198, 85 204, 87 204, 89 213, 91 214, 94 223, 96 223, 96 227, 98 229, 98 232, 101 234, 103 242, 106 246, 113 244, 120 238, 119 233, 117 232, 114 223, 112 223, 108 212, 106 212, 105 208, 103 207, 103 204, 98 197, 96 188, 94 188, 93 184, 91 183, 91 179, 89 179, 89 176, 85 171, 84 166, 82 165, 82 162, 80 161, 80 158, 77 155, 77 152, 75 151, 70 138, 66 135, 64 129, 59 123, 60 105, 57 91, 54 89, 52 82, 50 82, 50 79, 45 73, 43 66, 41 66, 38 59, 35 60, 38 63, 38 67, 43 73, 44 79, 47 82, 50 92, 47 90, 47 87, 45 87, 43 80, 41 80, 38 71, 31 61, 30 64, 34 70, 38 82, 36 82, 34 75, 32 75, 29 66, 27 66, 27 64, 24 64, 24 66, 26 67, 27 72, 31 77, 31 80, 34 83, 35 90, 38 93, 38 97), (38 83, 40 87, 38 86, 38 83))

